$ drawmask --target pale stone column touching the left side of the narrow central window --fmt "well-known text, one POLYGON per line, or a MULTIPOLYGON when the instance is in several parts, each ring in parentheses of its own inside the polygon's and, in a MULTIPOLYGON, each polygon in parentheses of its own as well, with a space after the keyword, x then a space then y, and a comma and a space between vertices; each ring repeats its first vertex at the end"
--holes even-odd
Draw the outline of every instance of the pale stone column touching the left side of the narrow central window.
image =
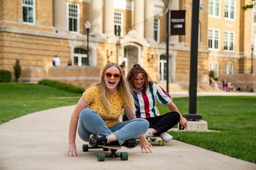
POLYGON ((114 0, 104 0, 104 27, 103 33, 109 37, 114 34, 114 0))

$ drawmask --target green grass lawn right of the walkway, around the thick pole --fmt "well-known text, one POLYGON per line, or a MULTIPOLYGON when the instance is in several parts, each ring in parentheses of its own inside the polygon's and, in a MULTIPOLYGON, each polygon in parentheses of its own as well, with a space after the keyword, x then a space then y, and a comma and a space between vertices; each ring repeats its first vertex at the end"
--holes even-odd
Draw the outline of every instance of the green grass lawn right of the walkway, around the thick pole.
MULTIPOLYGON (((174 99, 180 112, 188 113, 188 98, 174 99)), ((168 110, 158 105, 161 113, 168 110)), ((234 158, 256 160, 256 96, 203 96, 197 112, 209 130, 219 132, 171 132, 174 139, 234 158)))

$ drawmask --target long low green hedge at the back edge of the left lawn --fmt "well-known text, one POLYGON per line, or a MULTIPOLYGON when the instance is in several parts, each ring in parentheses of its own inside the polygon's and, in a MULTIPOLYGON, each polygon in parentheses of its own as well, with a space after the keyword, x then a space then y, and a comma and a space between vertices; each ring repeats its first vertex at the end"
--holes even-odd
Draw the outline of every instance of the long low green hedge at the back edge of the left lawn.
POLYGON ((83 93, 84 92, 84 89, 82 87, 77 87, 77 86, 74 86, 71 84, 61 83, 61 82, 54 81, 54 80, 44 79, 44 80, 39 81, 38 84, 54 87, 54 88, 57 88, 60 90, 70 91, 73 93, 83 93))

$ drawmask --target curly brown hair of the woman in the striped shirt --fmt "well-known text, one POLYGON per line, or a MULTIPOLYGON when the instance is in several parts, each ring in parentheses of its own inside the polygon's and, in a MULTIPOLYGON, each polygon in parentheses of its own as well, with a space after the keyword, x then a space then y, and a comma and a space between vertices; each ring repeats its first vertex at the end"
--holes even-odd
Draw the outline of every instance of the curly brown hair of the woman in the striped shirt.
POLYGON ((144 78, 144 84, 143 84, 142 87, 146 90, 147 89, 147 85, 153 84, 154 81, 151 80, 150 76, 147 74, 147 72, 144 70, 144 68, 142 68, 139 64, 135 64, 133 66, 133 68, 129 71, 126 80, 134 88, 134 79, 136 78, 136 76, 139 73, 142 73, 142 76, 144 78))

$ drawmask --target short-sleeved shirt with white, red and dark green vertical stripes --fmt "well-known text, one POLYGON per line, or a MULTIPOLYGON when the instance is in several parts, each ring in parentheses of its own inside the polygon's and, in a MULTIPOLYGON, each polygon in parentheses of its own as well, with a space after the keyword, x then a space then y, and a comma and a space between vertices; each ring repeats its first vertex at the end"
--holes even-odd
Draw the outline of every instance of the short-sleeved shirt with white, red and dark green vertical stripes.
POLYGON ((137 117, 159 116, 156 102, 159 101, 163 105, 172 102, 170 95, 156 83, 148 85, 147 90, 144 91, 144 89, 141 89, 139 92, 134 91, 133 93, 137 117))

